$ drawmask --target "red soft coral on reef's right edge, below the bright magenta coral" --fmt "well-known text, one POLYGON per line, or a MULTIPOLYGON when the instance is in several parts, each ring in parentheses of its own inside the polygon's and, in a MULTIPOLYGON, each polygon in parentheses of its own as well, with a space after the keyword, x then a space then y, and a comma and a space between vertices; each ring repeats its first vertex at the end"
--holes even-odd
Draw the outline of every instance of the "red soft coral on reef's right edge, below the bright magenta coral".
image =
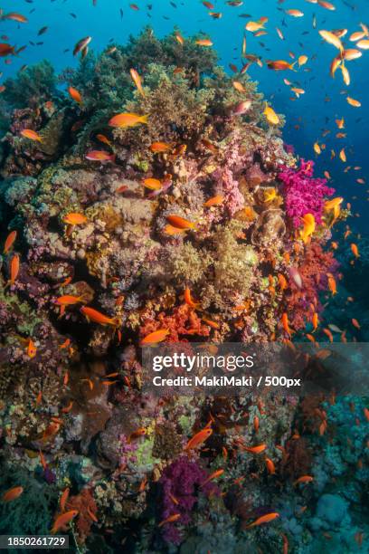
POLYGON ((325 252, 320 244, 312 243, 307 247, 303 263, 298 267, 302 278, 302 288, 291 282, 288 302, 289 321, 293 330, 305 327, 310 305, 316 311, 322 309, 318 300, 319 291, 327 289, 326 273, 336 272, 337 263, 332 252, 325 252))

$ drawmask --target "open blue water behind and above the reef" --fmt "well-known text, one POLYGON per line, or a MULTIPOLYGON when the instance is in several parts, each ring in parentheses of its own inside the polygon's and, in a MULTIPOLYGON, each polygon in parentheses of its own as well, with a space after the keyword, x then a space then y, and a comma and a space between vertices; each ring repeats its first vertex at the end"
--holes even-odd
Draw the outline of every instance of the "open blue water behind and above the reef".
POLYGON ((359 30, 361 21, 369 21, 369 3, 367 0, 334 0, 336 11, 327 11, 317 4, 310 4, 297 0, 279 3, 276 0, 248 0, 239 7, 232 7, 222 1, 215 3, 215 12, 222 12, 221 19, 213 19, 208 15, 209 10, 196 0, 187 2, 172 2, 168 0, 153 1, 150 4, 137 0, 139 10, 129 7, 128 0, 97 0, 93 6, 92 0, 46 0, 11 2, 5 0, 4 12, 17 11, 26 15, 28 24, 17 24, 14 21, 3 21, 0 24, 1 34, 9 37, 9 42, 17 47, 27 45, 26 50, 18 58, 12 59, 11 65, 1 65, 4 69, 3 79, 14 75, 24 64, 31 65, 43 58, 54 65, 57 72, 66 66, 75 66, 77 61, 72 56, 74 44, 81 37, 93 37, 91 48, 100 52, 109 41, 126 43, 129 34, 136 35, 147 24, 151 25, 157 36, 162 37, 171 33, 177 25, 184 36, 203 31, 207 33, 219 53, 220 59, 227 71, 231 62, 241 65, 241 40, 244 25, 260 16, 269 18, 266 24, 268 34, 258 38, 247 34, 247 52, 256 53, 264 60, 284 59, 292 61, 289 53, 296 57, 306 54, 307 64, 298 72, 271 72, 264 64, 260 68, 256 64, 251 66, 251 78, 259 81, 259 89, 266 98, 270 99, 273 108, 286 115, 287 124, 284 129, 284 139, 294 145, 299 155, 305 158, 317 158, 317 174, 328 170, 333 186, 340 195, 345 196, 352 203, 353 213, 360 217, 350 220, 350 225, 360 232, 369 230, 367 212, 367 184, 359 185, 356 178, 365 178, 368 175, 369 160, 366 154, 367 134, 366 126, 369 114, 367 91, 369 88, 369 53, 363 51, 363 56, 353 62, 347 62, 351 75, 351 84, 345 87, 341 72, 336 72, 336 78, 329 75, 329 65, 337 51, 335 47, 323 43, 318 34, 319 29, 348 30, 345 38, 347 47, 354 48, 355 43, 348 41, 348 36, 359 30), (304 16, 300 18, 285 14, 283 10, 298 8, 304 16), (71 15, 71 14, 74 14, 71 15), (250 14, 251 18, 242 18, 241 14, 250 14), (313 14, 317 17, 317 28, 313 28, 313 14), (38 31, 47 26, 48 30, 41 36, 38 31), (285 40, 279 39, 276 26, 282 31, 285 40), (33 43, 42 43, 32 45, 33 43), (69 52, 64 51, 69 49, 69 52), (308 71, 304 71, 308 70, 308 71), (296 101, 290 100, 294 96, 283 78, 297 83, 297 86, 306 91, 296 101), (362 107, 355 109, 345 101, 343 91, 360 100, 362 107), (336 139, 335 119, 345 118, 345 139, 336 139), (295 126, 298 125, 298 129, 295 126), (330 133, 322 138, 322 131, 330 133), (313 144, 325 143, 326 150, 316 157, 313 144), (345 147, 347 163, 344 164, 336 156, 330 159, 333 148, 338 154, 345 147), (360 170, 351 169, 344 172, 345 166, 359 166, 360 170))

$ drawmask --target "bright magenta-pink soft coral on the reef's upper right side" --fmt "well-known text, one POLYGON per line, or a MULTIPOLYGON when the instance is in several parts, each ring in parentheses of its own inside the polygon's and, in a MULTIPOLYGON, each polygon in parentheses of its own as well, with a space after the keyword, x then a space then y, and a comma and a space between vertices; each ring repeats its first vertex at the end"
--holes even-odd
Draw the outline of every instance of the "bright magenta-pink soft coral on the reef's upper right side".
POLYGON ((326 186, 326 179, 313 177, 314 162, 301 159, 298 169, 283 167, 279 180, 284 184, 286 213, 295 227, 301 226, 305 214, 314 215, 321 223, 325 196, 334 194, 335 189, 326 186))

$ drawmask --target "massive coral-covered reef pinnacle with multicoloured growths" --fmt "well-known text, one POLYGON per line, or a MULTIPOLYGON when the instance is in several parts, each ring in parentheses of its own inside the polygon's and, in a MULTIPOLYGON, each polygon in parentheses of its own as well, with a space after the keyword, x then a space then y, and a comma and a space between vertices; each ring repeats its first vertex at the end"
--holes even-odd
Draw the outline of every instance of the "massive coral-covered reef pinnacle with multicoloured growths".
MULTIPOLYGON (((73 533, 91 551, 135 540, 139 551, 160 551, 163 538, 205 537, 210 521, 229 533, 251 504, 240 516, 240 551, 259 532, 261 544, 279 548, 280 532, 245 521, 279 503, 266 459, 298 476, 295 400, 143 394, 139 345, 163 331, 166 344, 289 343, 336 277, 325 249, 333 189, 284 148, 247 72, 230 77, 199 37, 182 43, 178 33, 158 40, 147 29, 127 46, 88 54, 59 79, 80 102, 55 90, 45 63, 6 83, 14 110, 0 215, 4 238, 17 233, 1 259, 1 440, 22 472, 33 460, 32 490, 38 479, 52 483, 36 503, 43 512, 50 496, 48 525, 59 513, 55 491, 71 488, 73 533), (35 75, 38 88, 27 89, 35 75), (119 113, 141 122, 114 126, 119 113), (304 238, 307 214, 315 226, 304 238), (184 451, 207 425, 216 429, 209 447, 184 451), (258 442, 268 458, 245 450, 258 442), (213 481, 220 468, 225 492, 242 490, 238 511, 213 481), (131 532, 137 521, 140 536, 131 532)), ((46 532, 43 522, 36 531, 46 532)))

